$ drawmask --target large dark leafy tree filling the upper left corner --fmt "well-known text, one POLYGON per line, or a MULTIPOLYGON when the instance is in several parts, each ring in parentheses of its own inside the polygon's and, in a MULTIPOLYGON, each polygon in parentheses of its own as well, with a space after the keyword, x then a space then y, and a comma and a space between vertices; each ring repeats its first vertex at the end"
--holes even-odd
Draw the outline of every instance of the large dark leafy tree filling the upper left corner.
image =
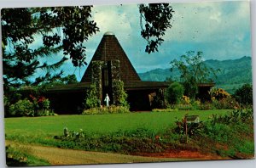
POLYGON ((54 8, 3 8, 3 79, 5 86, 19 87, 32 83, 30 77, 37 70, 46 70, 45 81, 60 78, 63 71, 53 76, 50 70, 58 70, 69 57, 74 66, 86 64, 87 41, 99 31, 90 20, 91 6, 54 8), (36 36, 42 36, 43 45, 32 48, 36 36), (9 47, 9 48, 7 48, 9 47), (64 57, 55 63, 42 62, 63 51, 64 57), (41 59, 41 61, 40 61, 41 59))

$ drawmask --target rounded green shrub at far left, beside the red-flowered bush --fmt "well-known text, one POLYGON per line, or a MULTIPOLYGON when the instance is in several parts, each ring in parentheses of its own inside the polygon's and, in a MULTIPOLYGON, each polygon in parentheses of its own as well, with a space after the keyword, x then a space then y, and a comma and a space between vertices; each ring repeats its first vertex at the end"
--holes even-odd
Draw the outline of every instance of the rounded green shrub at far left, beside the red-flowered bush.
POLYGON ((34 107, 28 99, 19 100, 9 106, 9 114, 15 116, 34 116, 34 107))

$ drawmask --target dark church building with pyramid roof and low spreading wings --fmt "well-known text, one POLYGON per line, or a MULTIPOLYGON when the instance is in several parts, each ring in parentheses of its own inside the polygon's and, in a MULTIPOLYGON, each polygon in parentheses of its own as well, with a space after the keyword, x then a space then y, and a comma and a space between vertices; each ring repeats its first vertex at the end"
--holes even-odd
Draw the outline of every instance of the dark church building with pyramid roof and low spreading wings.
MULTIPOLYGON (((156 94, 164 94, 170 85, 167 81, 142 81, 127 57, 118 39, 112 32, 106 32, 96 49, 93 58, 78 84, 49 88, 46 92, 51 105, 59 114, 78 114, 83 109, 86 90, 91 83, 96 83, 101 104, 108 93, 110 104, 113 104, 113 81, 124 82, 127 101, 131 111, 148 111, 154 107, 156 94)), ((201 84, 199 92, 207 94, 212 84, 201 84)))

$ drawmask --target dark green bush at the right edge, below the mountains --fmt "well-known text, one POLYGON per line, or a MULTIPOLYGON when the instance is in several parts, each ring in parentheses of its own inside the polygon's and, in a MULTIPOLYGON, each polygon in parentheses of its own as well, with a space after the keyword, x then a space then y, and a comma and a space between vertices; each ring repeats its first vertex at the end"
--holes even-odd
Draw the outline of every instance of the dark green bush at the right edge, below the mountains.
POLYGON ((245 84, 234 94, 236 101, 243 105, 253 105, 253 85, 245 84))

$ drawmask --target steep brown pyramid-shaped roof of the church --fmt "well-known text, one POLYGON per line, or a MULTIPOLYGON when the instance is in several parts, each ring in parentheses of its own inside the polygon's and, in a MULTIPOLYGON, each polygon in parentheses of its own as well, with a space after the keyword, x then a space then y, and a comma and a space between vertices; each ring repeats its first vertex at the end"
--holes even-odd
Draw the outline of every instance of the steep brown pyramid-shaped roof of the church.
POLYGON ((120 65, 120 79, 124 82, 126 81, 141 81, 140 77, 137 75, 136 70, 132 66, 130 60, 128 59, 124 49, 119 44, 118 39, 111 32, 107 32, 102 37, 93 58, 87 70, 82 77, 81 82, 91 81, 91 71, 92 71, 92 61, 102 60, 110 61, 113 59, 119 59, 120 65))

